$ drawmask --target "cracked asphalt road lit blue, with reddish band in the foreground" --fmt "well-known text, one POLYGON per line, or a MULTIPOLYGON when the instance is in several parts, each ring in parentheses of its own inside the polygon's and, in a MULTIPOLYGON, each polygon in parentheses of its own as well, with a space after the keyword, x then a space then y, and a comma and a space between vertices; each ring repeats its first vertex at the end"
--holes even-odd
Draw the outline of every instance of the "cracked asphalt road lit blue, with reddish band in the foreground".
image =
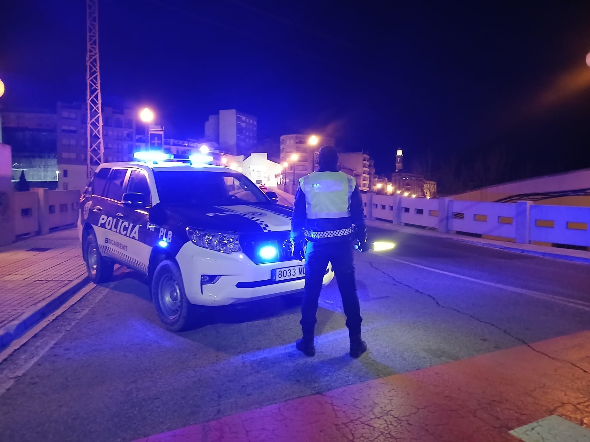
POLYGON ((588 266, 370 235, 397 246, 355 257, 358 360, 335 282, 306 358, 291 298, 173 334, 121 270, 0 364, 0 440, 516 441, 552 414, 590 426, 588 266))

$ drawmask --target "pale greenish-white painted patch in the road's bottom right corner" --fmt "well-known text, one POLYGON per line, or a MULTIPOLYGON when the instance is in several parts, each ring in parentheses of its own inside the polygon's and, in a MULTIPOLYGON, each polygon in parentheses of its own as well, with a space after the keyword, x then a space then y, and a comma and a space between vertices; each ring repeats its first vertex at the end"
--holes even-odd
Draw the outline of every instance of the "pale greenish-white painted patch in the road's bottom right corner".
POLYGON ((558 415, 509 431, 525 442, 590 442, 590 430, 558 415))

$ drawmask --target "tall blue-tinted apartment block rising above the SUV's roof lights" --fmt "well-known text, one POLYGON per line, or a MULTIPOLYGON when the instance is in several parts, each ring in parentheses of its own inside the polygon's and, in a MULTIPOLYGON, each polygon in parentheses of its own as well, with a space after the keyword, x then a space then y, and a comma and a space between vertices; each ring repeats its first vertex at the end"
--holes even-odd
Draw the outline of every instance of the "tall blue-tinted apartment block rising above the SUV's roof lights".
POLYGON ((205 122, 205 138, 231 155, 247 155, 257 143, 258 121, 236 109, 220 110, 205 122))

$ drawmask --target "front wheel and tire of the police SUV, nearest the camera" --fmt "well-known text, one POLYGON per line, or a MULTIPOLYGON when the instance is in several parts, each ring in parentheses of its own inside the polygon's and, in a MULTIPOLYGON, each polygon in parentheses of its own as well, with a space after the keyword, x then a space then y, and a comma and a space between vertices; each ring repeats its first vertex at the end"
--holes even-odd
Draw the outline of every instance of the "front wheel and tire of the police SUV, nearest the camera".
POLYGON ((170 259, 158 264, 150 283, 156 312, 170 331, 185 331, 199 324, 200 309, 186 298, 182 274, 170 259))

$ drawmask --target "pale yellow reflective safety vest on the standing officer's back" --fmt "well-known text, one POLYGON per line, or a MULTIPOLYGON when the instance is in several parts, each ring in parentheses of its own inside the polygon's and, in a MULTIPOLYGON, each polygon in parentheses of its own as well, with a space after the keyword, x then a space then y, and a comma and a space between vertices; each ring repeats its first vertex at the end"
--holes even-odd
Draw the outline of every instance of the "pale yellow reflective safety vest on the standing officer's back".
POLYGON ((350 216, 350 196, 356 180, 344 172, 313 172, 299 180, 308 219, 350 216))

